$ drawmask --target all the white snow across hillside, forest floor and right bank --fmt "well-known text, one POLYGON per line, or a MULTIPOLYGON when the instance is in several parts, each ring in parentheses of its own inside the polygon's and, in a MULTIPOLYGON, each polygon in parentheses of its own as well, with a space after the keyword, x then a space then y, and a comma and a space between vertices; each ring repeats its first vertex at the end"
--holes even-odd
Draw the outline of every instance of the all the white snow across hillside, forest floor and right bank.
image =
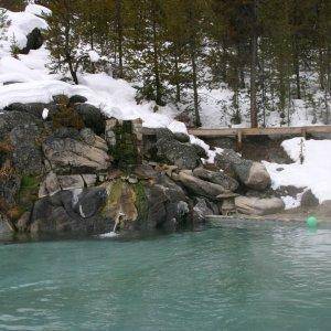
MULTIPOLYGON (((135 119, 140 117, 143 126, 150 128, 168 127, 174 132, 186 132, 182 122, 173 118, 173 107, 159 107, 154 113, 154 103, 146 102, 137 105, 135 100, 136 89, 126 81, 115 79, 111 76, 99 74, 81 74, 79 85, 72 85, 60 81, 57 74, 50 74, 47 70, 49 53, 44 47, 31 51, 28 55, 11 56, 10 45, 14 39, 20 47, 26 43, 26 34, 34 28, 46 29, 46 22, 40 17, 50 14, 50 11, 41 6, 30 4, 24 12, 7 11, 10 25, 4 31, 4 38, 0 41, 0 109, 12 103, 49 103, 52 96, 75 94, 85 96, 87 102, 99 107, 107 116, 121 119, 135 119), (8 82, 19 82, 3 85, 8 82)), ((92 61, 97 61, 97 54, 89 53, 92 61)), ((225 86, 216 89, 200 89, 201 118, 204 127, 227 126, 232 114, 225 111, 232 103, 233 93, 225 86), (222 115, 223 114, 223 115, 222 115)), ((248 111, 248 100, 245 94, 239 96, 242 113, 248 111)), ((0 110, 1 111, 1 110, 0 110)), ((311 111, 300 100, 293 102, 291 114, 292 125, 310 125, 311 111)), ((248 116, 244 116, 241 126, 247 126, 248 116), (246 118, 246 119, 245 119, 246 118)), ((279 125, 278 116, 269 116, 268 125, 279 125)), ((213 159, 221 149, 211 150, 202 140, 191 136, 191 142, 202 146, 209 153, 207 162, 213 159)), ((301 143, 300 138, 286 140, 282 143, 285 150, 293 159, 292 164, 276 164, 264 162, 271 175, 273 186, 293 185, 311 189, 320 202, 331 200, 331 140, 307 140, 301 143), (299 154, 302 146, 303 163, 300 164, 299 154)), ((301 195, 297 199, 285 196, 287 207, 297 206, 301 195)))

